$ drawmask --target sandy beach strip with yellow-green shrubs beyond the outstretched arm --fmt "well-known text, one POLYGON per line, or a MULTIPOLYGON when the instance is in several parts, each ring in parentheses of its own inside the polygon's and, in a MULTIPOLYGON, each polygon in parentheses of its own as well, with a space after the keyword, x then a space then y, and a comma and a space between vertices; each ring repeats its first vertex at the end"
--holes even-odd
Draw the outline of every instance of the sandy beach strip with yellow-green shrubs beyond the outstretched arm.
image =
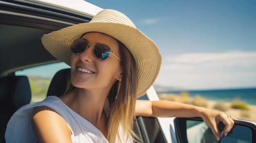
POLYGON ((181 92, 180 94, 158 93, 158 97, 161 100, 175 101, 213 110, 219 110, 241 120, 256 121, 256 106, 248 105, 245 101, 241 101, 239 97, 234 97, 231 102, 211 101, 200 95, 190 97, 189 92, 181 92))

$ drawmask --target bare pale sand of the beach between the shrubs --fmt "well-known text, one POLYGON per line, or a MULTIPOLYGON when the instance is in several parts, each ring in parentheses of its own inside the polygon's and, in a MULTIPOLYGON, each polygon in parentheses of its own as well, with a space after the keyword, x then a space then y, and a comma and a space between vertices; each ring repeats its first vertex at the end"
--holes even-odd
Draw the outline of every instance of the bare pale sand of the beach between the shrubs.
MULTIPOLYGON (((184 101, 187 101, 187 102, 195 101, 195 99, 191 97, 182 98, 180 95, 174 95, 174 94, 162 94, 162 95, 160 94, 158 96, 159 96, 159 99, 162 99, 162 100, 170 100, 170 101, 177 101, 177 102, 182 101, 183 103, 184 101)), ((200 101, 200 103, 203 103, 203 105, 205 105, 204 107, 211 110, 217 110, 216 108, 214 108, 214 106, 216 106, 217 103, 221 103, 221 106, 225 111, 224 110, 220 110, 220 111, 225 112, 227 115, 231 115, 240 120, 256 122, 256 105, 247 104, 247 107, 249 110, 241 110, 241 109, 231 108, 230 102, 211 101, 211 100, 202 98, 202 101, 200 101)))

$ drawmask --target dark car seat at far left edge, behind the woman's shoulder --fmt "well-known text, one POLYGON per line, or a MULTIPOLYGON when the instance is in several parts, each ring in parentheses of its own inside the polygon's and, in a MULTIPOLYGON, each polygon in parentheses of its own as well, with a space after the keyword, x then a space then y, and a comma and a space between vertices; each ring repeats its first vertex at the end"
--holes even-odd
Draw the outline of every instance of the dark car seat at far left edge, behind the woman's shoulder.
POLYGON ((13 113, 30 100, 31 90, 26 76, 0 78, 0 143, 5 143, 6 126, 13 113))

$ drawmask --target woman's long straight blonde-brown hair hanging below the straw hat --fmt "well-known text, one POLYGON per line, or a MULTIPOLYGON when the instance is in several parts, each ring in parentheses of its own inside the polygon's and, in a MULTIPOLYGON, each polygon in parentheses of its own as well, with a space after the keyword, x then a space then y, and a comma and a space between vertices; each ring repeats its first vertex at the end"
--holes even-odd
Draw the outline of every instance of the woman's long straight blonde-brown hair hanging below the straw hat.
MULTIPOLYGON (((123 139, 124 141, 128 141, 130 134, 137 138, 137 135, 132 130, 135 120, 135 102, 137 98, 136 63, 128 48, 118 40, 117 42, 119 44, 123 76, 120 87, 118 86, 119 81, 116 81, 108 94, 109 115, 107 120, 107 139, 110 143, 115 143, 116 139, 121 142, 122 139, 119 134, 120 126, 122 136, 127 137, 123 139), (119 90, 119 92, 117 92, 117 90, 119 90)), ((70 92, 74 88, 75 87, 71 84, 71 76, 69 76, 65 93, 70 92)))

